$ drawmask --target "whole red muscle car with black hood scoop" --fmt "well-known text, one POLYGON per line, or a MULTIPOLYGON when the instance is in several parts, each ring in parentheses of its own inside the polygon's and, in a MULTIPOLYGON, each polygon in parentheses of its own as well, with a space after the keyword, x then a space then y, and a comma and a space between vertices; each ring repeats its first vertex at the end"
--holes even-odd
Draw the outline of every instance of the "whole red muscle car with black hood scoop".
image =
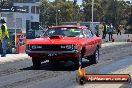
POLYGON ((45 60, 71 60, 79 67, 82 58, 91 64, 98 62, 101 43, 101 38, 86 26, 51 26, 43 37, 27 41, 26 53, 32 57, 34 68, 39 68, 45 60))

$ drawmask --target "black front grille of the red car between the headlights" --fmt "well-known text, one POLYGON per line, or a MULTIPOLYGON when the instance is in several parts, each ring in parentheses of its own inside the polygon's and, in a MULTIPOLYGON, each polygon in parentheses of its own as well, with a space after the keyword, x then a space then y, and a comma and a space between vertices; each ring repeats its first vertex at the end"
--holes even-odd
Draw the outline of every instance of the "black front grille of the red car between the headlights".
MULTIPOLYGON (((61 48, 61 45, 55 45, 55 44, 52 44, 52 45, 37 45, 37 46, 41 46, 42 48, 36 48, 36 49, 31 49, 32 51, 69 51, 71 49, 62 49, 61 48)), ((32 45, 30 46, 32 47, 32 45)))

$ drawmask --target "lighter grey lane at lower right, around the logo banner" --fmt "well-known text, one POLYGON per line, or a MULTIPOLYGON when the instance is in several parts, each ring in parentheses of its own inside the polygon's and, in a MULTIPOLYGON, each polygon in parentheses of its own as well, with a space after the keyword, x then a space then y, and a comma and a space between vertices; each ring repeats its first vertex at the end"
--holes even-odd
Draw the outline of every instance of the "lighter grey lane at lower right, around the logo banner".
MULTIPOLYGON (((132 56, 127 56, 127 57, 122 58, 121 60, 118 59, 119 61, 115 61, 113 63, 107 63, 105 65, 99 65, 99 66, 93 65, 93 66, 91 66, 91 68, 86 69, 86 72, 91 74, 90 70, 93 70, 93 68, 98 67, 98 68, 94 69, 95 72, 99 71, 97 73, 103 73, 103 71, 105 69, 111 68, 113 70, 109 69, 109 71, 106 72, 106 73, 118 74, 118 70, 124 68, 122 66, 125 66, 125 68, 127 68, 128 66, 132 66, 132 63, 127 64, 127 62, 132 61, 131 58, 132 58, 132 56), (125 59, 125 62, 124 62, 124 59, 125 59), (117 63, 120 64, 120 65, 117 65, 116 67, 112 66, 112 65, 116 65, 117 63), (102 68, 102 66, 104 68, 102 68), (115 69, 115 68, 117 68, 117 69, 115 69)), ((123 73, 125 73, 125 72, 123 72, 123 73)), ((126 72, 125 74, 128 74, 128 73, 126 72)), ((84 86, 80 86, 79 84, 76 83, 75 79, 76 79, 76 72, 71 72, 70 74, 64 74, 64 75, 54 77, 54 78, 51 78, 51 79, 42 80, 38 83, 28 84, 26 86, 28 88, 103 88, 103 87, 105 87, 105 85, 107 85, 107 88, 118 88, 121 85, 123 85, 123 84, 105 84, 104 85, 103 83, 102 84, 101 83, 100 84, 98 84, 98 83, 94 83, 94 84, 88 83, 88 84, 85 84, 84 86), (112 87, 113 85, 114 85, 114 87, 112 87)), ((129 88, 131 88, 130 87, 131 84, 127 84, 127 86, 128 85, 129 85, 129 88)), ((26 86, 17 86, 17 87, 25 88, 26 86)), ((17 88, 17 87, 15 87, 15 88, 17 88)), ((122 88, 127 88, 127 87, 122 87, 122 88)))

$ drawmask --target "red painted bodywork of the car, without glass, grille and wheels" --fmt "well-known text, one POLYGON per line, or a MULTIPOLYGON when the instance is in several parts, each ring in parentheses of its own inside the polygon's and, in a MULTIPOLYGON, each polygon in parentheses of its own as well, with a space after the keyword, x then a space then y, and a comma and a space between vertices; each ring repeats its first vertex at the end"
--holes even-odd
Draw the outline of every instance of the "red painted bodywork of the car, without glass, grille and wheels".
MULTIPOLYGON (((97 37, 96 35, 93 35, 92 37, 88 38, 86 37, 87 32, 86 26, 51 26, 49 28, 80 28, 83 31, 84 37, 68 37, 68 36, 50 36, 50 37, 44 37, 44 38, 36 38, 27 41, 27 44, 29 45, 26 52, 31 57, 42 58, 43 60, 49 60, 49 59, 57 59, 57 60, 70 60, 75 59, 79 56, 82 49, 85 49, 85 56, 92 55, 97 46, 101 47, 102 40, 100 37, 97 37), (30 50, 30 45, 76 45, 76 50, 38 50, 38 51, 32 51, 30 50), (71 52, 73 51, 73 52, 71 52), (50 54, 55 54, 51 55, 50 54)), ((54 47, 53 47, 54 48, 54 47)))

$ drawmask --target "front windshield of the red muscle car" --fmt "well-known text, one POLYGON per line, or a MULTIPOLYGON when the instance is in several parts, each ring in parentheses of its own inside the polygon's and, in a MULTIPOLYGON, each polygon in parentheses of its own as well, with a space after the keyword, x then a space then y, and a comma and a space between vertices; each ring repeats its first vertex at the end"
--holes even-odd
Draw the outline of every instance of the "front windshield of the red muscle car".
POLYGON ((62 35, 68 37, 84 37, 81 28, 49 28, 44 36, 62 35))

